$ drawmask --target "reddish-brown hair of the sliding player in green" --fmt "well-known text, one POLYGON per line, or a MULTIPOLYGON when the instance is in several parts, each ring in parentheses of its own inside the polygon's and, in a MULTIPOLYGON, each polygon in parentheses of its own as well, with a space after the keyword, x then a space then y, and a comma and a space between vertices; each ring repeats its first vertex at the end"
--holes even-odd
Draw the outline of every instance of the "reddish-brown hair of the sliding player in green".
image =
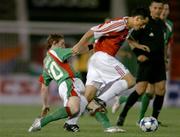
POLYGON ((47 50, 51 48, 54 41, 58 43, 62 39, 64 39, 64 36, 61 34, 50 34, 47 38, 47 50))

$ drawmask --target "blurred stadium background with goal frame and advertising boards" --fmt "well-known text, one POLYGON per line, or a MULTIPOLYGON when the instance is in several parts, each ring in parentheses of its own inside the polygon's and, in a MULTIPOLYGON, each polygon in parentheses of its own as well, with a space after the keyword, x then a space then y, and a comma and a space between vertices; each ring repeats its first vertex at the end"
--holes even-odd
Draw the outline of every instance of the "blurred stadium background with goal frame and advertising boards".
MULTIPOLYGON (((165 105, 180 107, 180 1, 170 0, 169 4, 174 44, 165 105)), ((149 0, 1 0, 0 104, 41 103, 38 77, 49 34, 63 34, 67 46, 72 47, 90 27, 107 18, 128 16, 133 8, 148 5, 149 0)), ((89 56, 72 60, 84 81, 89 56)), ((135 75, 134 56, 122 60, 135 75)), ((59 101, 55 83, 50 91, 51 103, 59 101)))

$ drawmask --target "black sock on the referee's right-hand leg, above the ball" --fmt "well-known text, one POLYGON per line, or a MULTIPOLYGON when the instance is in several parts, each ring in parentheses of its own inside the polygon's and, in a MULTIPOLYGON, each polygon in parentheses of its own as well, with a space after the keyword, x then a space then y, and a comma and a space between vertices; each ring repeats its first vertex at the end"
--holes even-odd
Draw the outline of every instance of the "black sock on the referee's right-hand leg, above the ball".
POLYGON ((152 116, 156 119, 158 119, 159 113, 161 111, 161 108, 163 106, 164 96, 156 95, 154 102, 153 102, 153 113, 152 116))

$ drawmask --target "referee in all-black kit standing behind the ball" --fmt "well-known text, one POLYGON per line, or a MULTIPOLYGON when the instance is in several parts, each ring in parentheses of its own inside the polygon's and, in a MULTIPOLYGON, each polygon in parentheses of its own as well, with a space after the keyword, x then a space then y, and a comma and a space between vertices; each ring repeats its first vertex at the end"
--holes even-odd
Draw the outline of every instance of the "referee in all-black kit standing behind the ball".
POLYGON ((164 32, 165 25, 160 20, 163 9, 163 2, 152 0, 150 6, 151 18, 144 29, 133 31, 129 38, 129 44, 133 47, 147 46, 147 51, 134 48, 134 52, 141 57, 138 65, 136 89, 132 92, 124 106, 119 119, 118 126, 122 126, 129 109, 135 104, 138 98, 145 92, 148 83, 155 86, 155 100, 153 103, 152 116, 158 118, 163 105, 165 94, 165 56, 164 56, 164 32))

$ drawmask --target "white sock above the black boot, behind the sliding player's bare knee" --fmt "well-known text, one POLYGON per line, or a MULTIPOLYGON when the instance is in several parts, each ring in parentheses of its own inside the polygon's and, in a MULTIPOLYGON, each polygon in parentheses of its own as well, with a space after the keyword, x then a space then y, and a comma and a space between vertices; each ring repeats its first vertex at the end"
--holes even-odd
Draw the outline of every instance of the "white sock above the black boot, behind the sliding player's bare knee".
POLYGON ((81 98, 81 101, 80 101, 80 112, 79 112, 79 114, 76 117, 70 118, 70 119, 68 119, 66 121, 66 123, 69 124, 69 125, 76 125, 77 122, 78 122, 79 117, 81 116, 81 114, 86 109, 86 106, 88 104, 87 99, 84 96, 82 96, 82 95, 80 95, 80 98, 81 98))

